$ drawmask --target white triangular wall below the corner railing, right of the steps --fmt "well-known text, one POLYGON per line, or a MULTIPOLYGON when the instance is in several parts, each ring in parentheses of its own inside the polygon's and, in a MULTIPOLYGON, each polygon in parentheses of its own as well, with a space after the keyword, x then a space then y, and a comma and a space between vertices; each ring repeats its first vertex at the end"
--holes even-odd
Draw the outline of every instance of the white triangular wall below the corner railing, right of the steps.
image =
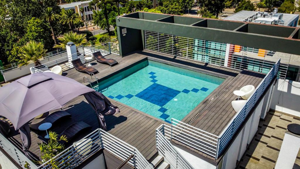
POLYGON ((175 149, 187 160, 187 162, 189 162, 194 167, 194 169, 216 169, 216 166, 214 166, 213 164, 210 164, 207 161, 184 151, 183 149, 180 149, 178 147, 175 147, 175 149))

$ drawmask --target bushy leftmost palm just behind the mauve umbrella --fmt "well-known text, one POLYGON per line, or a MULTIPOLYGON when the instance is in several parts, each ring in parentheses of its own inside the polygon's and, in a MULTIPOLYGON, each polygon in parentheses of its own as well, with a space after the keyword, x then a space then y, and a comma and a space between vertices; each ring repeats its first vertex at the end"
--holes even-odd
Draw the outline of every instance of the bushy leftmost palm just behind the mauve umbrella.
POLYGON ((29 41, 25 45, 19 48, 19 57, 21 63, 19 66, 28 65, 30 62, 34 62, 35 66, 41 65, 39 59, 46 54, 46 49, 41 42, 29 41))

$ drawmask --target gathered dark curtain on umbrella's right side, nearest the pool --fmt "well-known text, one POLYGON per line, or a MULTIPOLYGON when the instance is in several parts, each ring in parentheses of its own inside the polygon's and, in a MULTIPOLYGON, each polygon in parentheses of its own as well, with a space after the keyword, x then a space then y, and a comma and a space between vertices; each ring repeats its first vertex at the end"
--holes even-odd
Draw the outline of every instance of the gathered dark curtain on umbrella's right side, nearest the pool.
POLYGON ((116 112, 120 112, 120 109, 110 103, 102 93, 93 91, 85 93, 83 96, 95 110, 100 128, 107 131, 104 115, 114 115, 116 112))

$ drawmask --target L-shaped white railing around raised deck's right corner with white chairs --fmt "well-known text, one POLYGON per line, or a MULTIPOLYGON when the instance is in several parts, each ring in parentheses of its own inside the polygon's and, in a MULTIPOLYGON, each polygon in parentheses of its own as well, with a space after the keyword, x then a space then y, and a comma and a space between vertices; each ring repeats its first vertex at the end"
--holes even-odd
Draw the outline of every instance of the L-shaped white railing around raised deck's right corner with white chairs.
MULTIPOLYGON (((247 115, 259 101, 259 98, 267 90, 274 77, 277 77, 279 66, 280 59, 271 68, 265 78, 263 78, 242 109, 235 114, 219 136, 200 130, 174 118, 171 119, 171 126, 162 125, 157 130, 163 133, 164 137, 168 140, 178 141, 217 159, 247 115)), ((156 133, 156 137, 159 137, 158 132, 156 133)))

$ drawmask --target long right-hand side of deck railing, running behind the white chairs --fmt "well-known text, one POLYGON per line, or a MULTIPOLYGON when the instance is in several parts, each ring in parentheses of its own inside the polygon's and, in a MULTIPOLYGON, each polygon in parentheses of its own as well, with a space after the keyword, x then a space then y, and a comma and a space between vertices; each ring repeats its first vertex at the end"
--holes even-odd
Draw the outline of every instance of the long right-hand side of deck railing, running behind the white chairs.
POLYGON ((247 100, 243 108, 232 118, 227 127, 220 134, 220 145, 218 148, 218 154, 222 153, 224 148, 227 146, 235 132, 240 127, 241 123, 245 120, 247 115, 259 101, 259 98, 267 90, 268 86, 271 84, 272 79, 277 77, 278 69, 280 65, 280 59, 277 63, 271 68, 265 78, 260 82, 260 84, 255 89, 254 93, 247 100))

